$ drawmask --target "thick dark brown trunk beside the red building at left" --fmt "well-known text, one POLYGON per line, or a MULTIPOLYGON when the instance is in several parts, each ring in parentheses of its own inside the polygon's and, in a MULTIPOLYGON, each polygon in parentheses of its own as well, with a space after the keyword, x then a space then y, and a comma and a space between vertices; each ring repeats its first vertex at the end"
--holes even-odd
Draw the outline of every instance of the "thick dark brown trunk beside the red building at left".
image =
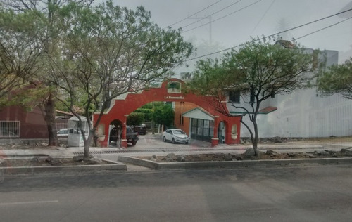
POLYGON ((58 146, 58 135, 55 124, 55 102, 51 93, 44 103, 44 120, 49 134, 48 146, 58 146))

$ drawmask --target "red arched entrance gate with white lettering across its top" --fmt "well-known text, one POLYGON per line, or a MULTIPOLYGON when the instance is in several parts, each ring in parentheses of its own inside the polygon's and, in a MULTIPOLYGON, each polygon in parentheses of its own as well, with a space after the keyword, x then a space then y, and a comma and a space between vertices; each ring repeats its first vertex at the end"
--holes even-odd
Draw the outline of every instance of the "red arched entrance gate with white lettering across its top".
MULTIPOLYGON (((118 122, 120 130, 122 131, 121 146, 127 148, 127 116, 142 105, 155 101, 194 103, 214 117, 213 138, 211 138, 212 146, 218 145, 219 143, 218 127, 220 122, 225 124, 225 143, 239 143, 240 117, 229 117, 215 110, 213 105, 209 102, 214 101, 211 96, 196 96, 194 93, 182 93, 183 86, 185 86, 184 81, 180 79, 170 79, 156 87, 139 92, 125 93, 112 100, 110 108, 101 117, 97 128, 100 145, 102 147, 108 146, 109 126, 113 122, 118 122), (234 128, 236 130, 233 130, 234 128), (232 135, 234 131, 236 135, 232 135)), ((94 124, 98 117, 98 113, 93 115, 94 124)))

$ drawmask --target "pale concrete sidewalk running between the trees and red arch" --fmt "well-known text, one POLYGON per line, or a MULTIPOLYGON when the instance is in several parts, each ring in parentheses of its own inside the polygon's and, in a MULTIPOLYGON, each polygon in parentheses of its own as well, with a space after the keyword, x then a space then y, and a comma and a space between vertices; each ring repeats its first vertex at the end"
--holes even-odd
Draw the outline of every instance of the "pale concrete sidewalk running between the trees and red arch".
MULTIPOLYGON (((341 150, 341 148, 351 148, 352 143, 279 143, 275 145, 258 145, 258 150, 275 150, 277 152, 308 152, 314 150, 341 150)), ((185 147, 182 145, 175 145, 172 148, 140 148, 128 147, 124 148, 90 148, 92 155, 166 155, 170 152, 190 154, 190 153, 210 153, 210 152, 234 152, 243 153, 251 145, 218 145, 215 148, 196 146, 185 147)), ((75 155, 83 155, 84 148, 57 148, 53 149, 23 149, 23 150, 0 150, 0 157, 31 157, 31 156, 50 156, 53 158, 72 158, 75 155)))

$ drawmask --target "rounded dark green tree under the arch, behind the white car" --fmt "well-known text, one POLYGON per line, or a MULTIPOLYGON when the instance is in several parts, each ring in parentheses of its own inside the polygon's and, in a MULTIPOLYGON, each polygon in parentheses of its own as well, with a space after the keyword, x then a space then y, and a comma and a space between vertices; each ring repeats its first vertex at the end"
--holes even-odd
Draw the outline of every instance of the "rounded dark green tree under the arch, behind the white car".
POLYGON ((163 124, 170 127, 174 124, 175 111, 172 109, 171 105, 159 105, 154 107, 152 117, 156 124, 163 124))

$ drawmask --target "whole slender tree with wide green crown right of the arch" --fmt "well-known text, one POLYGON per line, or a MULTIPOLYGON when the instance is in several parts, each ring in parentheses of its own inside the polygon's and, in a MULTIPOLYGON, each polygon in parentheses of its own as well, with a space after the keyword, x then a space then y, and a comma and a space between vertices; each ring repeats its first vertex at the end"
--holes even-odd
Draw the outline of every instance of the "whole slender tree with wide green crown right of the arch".
POLYGON ((221 103, 225 94, 240 92, 244 103, 231 105, 244 113, 241 123, 249 130, 253 149, 258 155, 260 105, 271 96, 291 93, 308 84, 311 75, 307 72, 311 64, 312 55, 305 53, 303 48, 284 48, 267 39, 253 40, 239 51, 226 53, 221 60, 200 60, 189 87, 195 93, 217 98, 213 105, 225 115, 229 115, 221 103))

